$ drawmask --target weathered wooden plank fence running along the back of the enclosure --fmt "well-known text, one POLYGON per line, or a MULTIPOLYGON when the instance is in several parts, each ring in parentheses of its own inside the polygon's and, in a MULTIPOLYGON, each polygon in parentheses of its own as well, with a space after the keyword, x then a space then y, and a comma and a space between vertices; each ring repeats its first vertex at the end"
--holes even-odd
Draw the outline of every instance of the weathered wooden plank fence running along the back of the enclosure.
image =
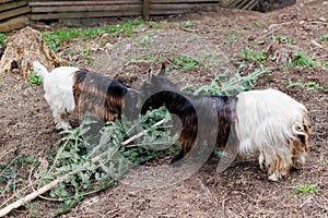
MULTIPOLYGON (((254 4, 257 0, 223 0, 254 4)), ((27 25, 28 21, 79 21, 117 16, 180 14, 196 7, 218 5, 222 0, 0 0, 0 32, 27 25)))

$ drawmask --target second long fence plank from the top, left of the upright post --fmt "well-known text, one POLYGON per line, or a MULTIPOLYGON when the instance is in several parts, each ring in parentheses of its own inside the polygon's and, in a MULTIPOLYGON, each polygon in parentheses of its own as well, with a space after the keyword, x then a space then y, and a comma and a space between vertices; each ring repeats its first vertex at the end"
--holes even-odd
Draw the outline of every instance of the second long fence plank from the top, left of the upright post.
POLYGON ((51 12, 95 12, 95 11, 124 11, 140 9, 141 4, 120 4, 120 5, 80 5, 80 7, 32 7, 32 13, 51 12))

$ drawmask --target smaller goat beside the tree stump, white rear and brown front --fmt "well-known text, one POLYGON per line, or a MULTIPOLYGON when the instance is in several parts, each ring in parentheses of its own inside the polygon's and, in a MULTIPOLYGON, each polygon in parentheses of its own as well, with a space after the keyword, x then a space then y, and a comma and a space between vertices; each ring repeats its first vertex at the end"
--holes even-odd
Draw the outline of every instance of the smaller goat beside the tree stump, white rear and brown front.
POLYGON ((43 80, 45 99, 57 129, 70 129, 68 118, 73 112, 105 121, 113 121, 122 109, 131 119, 136 114, 139 98, 136 90, 117 81, 73 66, 59 66, 49 73, 38 61, 33 62, 33 68, 43 80), (132 105, 125 107, 125 97, 132 105))

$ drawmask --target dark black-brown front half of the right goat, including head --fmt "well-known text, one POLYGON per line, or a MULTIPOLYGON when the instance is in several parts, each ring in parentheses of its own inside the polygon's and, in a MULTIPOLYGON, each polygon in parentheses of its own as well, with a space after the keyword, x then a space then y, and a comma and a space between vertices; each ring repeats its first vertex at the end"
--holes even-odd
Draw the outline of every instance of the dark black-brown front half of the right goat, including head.
POLYGON ((178 142, 183 149, 173 162, 187 155, 194 145, 202 146, 207 137, 216 138, 218 147, 226 145, 233 123, 236 121, 236 97, 185 94, 163 75, 153 76, 150 83, 141 87, 141 92, 144 95, 154 93, 145 101, 142 113, 149 108, 165 106, 171 113, 177 114, 181 120, 178 142), (156 88, 161 92, 156 93, 156 88))

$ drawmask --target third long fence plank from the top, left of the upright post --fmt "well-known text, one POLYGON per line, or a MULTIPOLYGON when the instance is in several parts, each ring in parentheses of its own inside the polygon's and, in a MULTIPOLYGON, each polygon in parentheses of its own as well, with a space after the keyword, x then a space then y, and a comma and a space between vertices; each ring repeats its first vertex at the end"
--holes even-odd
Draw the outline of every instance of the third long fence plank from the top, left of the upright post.
POLYGON ((56 20, 56 19, 86 19, 86 17, 110 17, 110 16, 132 16, 141 15, 142 11, 103 11, 103 12, 71 12, 71 13, 48 13, 31 14, 31 20, 56 20))

